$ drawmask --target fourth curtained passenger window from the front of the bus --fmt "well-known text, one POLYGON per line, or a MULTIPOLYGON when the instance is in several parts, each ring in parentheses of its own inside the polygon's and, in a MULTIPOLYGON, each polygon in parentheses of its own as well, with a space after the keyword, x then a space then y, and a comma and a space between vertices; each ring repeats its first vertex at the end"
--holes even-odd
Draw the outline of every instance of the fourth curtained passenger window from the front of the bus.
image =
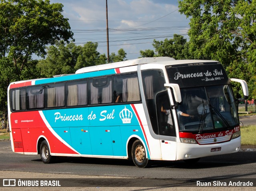
POLYGON ((47 107, 62 107, 65 99, 64 83, 46 85, 47 107))

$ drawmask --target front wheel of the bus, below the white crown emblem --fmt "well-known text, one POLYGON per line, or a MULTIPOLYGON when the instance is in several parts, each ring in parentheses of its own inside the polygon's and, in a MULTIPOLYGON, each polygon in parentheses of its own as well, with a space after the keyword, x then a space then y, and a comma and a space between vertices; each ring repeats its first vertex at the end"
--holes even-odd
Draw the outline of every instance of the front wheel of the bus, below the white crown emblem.
POLYGON ((140 140, 132 144, 132 160, 137 167, 145 168, 150 165, 150 161, 146 158, 146 149, 140 140))

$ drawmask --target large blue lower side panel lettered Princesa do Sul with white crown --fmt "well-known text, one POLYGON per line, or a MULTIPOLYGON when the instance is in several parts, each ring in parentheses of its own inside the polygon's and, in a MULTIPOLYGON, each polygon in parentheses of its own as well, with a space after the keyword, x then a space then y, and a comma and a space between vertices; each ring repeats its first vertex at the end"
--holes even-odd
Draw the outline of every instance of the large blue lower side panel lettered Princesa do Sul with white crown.
POLYGON ((132 135, 146 143, 130 104, 44 112, 52 129, 80 154, 126 156, 126 142, 132 135))

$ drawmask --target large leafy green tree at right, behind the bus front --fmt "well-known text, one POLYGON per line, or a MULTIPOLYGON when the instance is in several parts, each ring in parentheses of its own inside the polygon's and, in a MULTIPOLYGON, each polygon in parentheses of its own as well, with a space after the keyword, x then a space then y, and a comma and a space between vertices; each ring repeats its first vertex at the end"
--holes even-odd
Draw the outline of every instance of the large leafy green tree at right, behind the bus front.
POLYGON ((238 74, 241 66, 243 74, 255 76, 256 1, 183 0, 179 8, 190 18, 190 51, 196 57, 220 61, 229 76, 238 74))

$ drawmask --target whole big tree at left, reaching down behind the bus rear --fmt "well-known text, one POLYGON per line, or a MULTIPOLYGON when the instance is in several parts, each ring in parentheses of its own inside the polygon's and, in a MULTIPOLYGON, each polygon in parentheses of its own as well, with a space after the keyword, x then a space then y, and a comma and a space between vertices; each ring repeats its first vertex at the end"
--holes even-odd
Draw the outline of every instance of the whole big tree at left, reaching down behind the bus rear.
POLYGON ((0 110, 4 116, 8 84, 37 74, 31 56, 44 57, 46 45, 72 38, 62 7, 49 0, 0 0, 0 84, 5 89, 0 91, 0 110))

